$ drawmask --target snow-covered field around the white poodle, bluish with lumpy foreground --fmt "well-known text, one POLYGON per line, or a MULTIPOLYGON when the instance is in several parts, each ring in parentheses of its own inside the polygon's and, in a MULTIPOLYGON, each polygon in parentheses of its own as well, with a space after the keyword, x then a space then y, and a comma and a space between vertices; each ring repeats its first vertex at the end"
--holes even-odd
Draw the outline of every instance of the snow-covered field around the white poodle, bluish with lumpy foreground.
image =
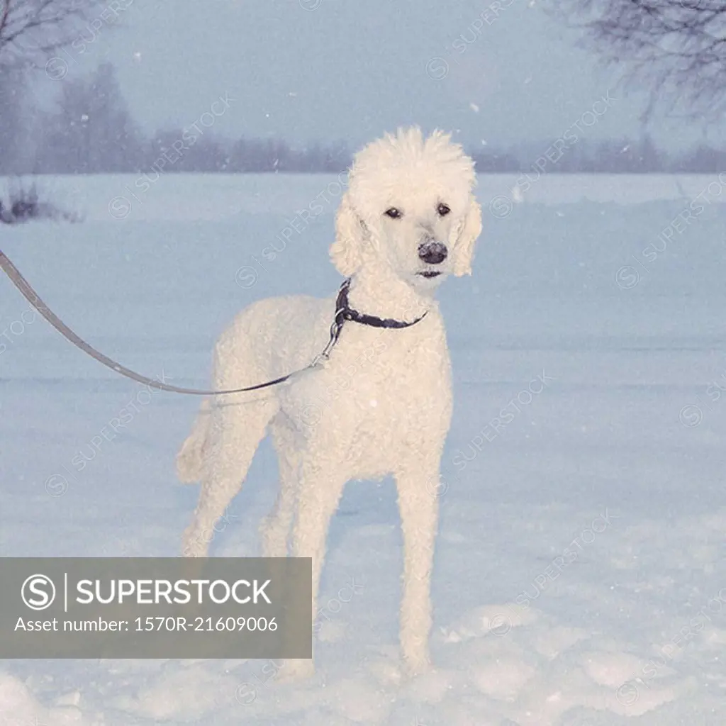
MULTIPOLYGON (((481 178, 473 277, 440 293, 455 405, 435 671, 399 673, 393 484, 351 482, 313 680, 279 684, 265 661, 2 661, 0 725, 726 723, 726 184, 515 180, 481 178)), ((0 229, 55 311, 135 370, 206 386, 238 309, 338 287, 335 176, 135 181, 46 179, 85 221, 0 229)), ((114 377, 4 278, 0 314, 0 555, 177 555, 197 487, 174 456, 198 401, 114 377)), ((213 555, 257 554, 276 476, 266 442, 213 555)))

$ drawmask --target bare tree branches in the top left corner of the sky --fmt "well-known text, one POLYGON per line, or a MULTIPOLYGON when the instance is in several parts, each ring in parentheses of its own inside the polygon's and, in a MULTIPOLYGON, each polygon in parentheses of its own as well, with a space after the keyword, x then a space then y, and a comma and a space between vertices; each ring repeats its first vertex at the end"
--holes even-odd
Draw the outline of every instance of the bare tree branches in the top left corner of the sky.
POLYGON ((0 68, 37 65, 73 42, 101 0, 0 0, 0 68))

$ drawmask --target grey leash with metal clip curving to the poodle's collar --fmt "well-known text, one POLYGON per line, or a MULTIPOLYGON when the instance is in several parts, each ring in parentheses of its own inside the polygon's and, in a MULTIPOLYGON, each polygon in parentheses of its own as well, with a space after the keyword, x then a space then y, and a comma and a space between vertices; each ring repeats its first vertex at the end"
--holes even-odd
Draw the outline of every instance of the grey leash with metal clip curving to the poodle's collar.
POLYGON ((258 391, 260 388, 269 388, 269 386, 277 386, 280 383, 285 383, 286 380, 292 378, 294 375, 298 375, 298 373, 302 373, 303 371, 315 368, 320 364, 320 362, 327 360, 330 356, 330 351, 333 350, 335 343, 338 342, 338 338, 340 337, 340 330, 343 328, 343 322, 345 322, 346 319, 344 317, 345 309, 340 309, 340 302, 343 296, 343 290, 347 291, 351 282, 348 278, 348 280, 343 282, 343 285, 340 286, 338 300, 336 301, 335 305, 335 320, 333 321, 333 325, 330 326, 330 340, 328 340, 327 346, 325 346, 325 349, 322 351, 322 353, 315 356, 311 364, 307 365, 304 368, 301 368, 300 370, 296 370, 292 373, 288 373, 287 375, 283 375, 281 378, 268 380, 266 383, 258 383, 256 386, 246 386, 245 388, 232 388, 229 391, 203 391, 198 388, 181 388, 180 386, 170 386, 168 383, 161 383, 158 380, 154 380, 153 378, 147 378, 145 375, 136 373, 133 370, 126 368, 126 366, 121 365, 121 363, 118 363, 115 360, 109 358, 108 356, 105 356, 100 351, 97 351, 96 348, 90 346, 89 343, 86 343, 86 341, 83 340, 83 338, 81 338, 79 335, 76 335, 73 330, 70 330, 70 327, 68 327, 68 325, 65 325, 65 322, 63 322, 46 305, 46 303, 41 300, 40 295, 38 295, 38 293, 33 290, 30 282, 28 282, 28 280, 25 280, 25 277, 20 274, 20 270, 18 270, 17 267, 12 264, 7 255, 2 250, 0 250, 0 268, 2 268, 5 274, 7 274, 13 285, 15 285, 18 290, 20 290, 20 293, 30 303, 30 305, 32 305, 58 331, 58 333, 60 333, 66 340, 69 340, 70 343, 73 343, 76 348, 80 348, 84 353, 91 356, 91 358, 105 365, 105 367, 110 368, 117 373, 121 373, 121 375, 125 375, 126 378, 131 378, 131 380, 135 380, 138 383, 144 383, 144 385, 149 386, 150 388, 156 388, 159 391, 169 391, 170 393, 187 393, 187 395, 189 396, 227 396, 229 393, 246 393, 247 391, 258 391))

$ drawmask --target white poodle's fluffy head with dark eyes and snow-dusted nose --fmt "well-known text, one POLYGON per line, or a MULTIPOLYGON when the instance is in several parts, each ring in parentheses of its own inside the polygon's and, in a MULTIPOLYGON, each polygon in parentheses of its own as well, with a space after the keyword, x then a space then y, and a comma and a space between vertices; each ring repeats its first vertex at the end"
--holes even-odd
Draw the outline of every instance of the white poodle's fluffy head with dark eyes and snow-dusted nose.
POLYGON ((386 264, 415 287, 471 273, 481 208, 473 161, 449 134, 420 129, 368 144, 355 156, 330 256, 346 277, 386 264))

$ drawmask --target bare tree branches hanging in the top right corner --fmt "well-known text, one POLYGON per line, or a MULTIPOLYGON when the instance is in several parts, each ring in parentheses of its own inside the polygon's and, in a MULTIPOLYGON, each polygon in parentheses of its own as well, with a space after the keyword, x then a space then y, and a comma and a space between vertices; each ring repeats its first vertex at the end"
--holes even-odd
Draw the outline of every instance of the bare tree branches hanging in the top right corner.
POLYGON ((726 0, 566 0, 584 42, 650 90, 646 116, 713 121, 726 107, 726 0))

